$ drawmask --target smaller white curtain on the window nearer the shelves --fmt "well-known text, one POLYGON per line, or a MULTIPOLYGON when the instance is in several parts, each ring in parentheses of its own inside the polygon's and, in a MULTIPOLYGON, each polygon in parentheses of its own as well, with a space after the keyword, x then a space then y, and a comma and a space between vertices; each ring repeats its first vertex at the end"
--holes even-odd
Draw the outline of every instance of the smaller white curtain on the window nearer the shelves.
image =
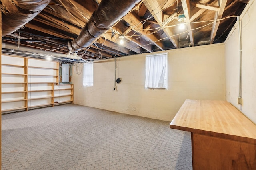
POLYGON ((83 85, 93 86, 93 63, 84 64, 83 85))

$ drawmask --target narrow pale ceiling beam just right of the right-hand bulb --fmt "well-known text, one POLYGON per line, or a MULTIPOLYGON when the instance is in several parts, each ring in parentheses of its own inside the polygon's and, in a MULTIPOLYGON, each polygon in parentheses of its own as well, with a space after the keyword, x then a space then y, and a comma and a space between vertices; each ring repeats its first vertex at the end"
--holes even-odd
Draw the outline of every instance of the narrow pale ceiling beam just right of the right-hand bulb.
POLYGON ((186 26, 188 27, 188 33, 190 37, 191 46, 194 46, 194 33, 190 24, 190 4, 189 0, 181 0, 184 15, 186 17, 186 26))

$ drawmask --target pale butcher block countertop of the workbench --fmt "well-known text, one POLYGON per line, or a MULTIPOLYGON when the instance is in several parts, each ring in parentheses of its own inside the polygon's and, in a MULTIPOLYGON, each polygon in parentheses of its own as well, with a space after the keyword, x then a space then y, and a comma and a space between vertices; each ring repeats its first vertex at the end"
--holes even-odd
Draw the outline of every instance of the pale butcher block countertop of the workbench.
POLYGON ((256 125, 227 101, 186 100, 170 128, 256 144, 256 125))

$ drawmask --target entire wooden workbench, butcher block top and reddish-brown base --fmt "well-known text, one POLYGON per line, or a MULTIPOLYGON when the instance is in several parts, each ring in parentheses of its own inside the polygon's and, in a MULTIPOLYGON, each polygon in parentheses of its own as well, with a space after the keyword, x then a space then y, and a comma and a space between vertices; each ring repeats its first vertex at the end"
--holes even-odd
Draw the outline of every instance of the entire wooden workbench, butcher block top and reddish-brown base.
POLYGON ((256 125, 226 101, 186 100, 170 128, 191 132, 193 170, 256 170, 256 125))

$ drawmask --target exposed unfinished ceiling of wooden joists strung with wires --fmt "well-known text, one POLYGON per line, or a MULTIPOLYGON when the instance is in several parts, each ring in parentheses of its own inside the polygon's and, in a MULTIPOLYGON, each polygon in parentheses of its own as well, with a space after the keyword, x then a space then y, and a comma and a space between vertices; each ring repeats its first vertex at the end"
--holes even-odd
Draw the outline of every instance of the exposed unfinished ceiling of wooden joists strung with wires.
MULTIPOLYGON (((17 44, 17 39, 25 37, 36 42, 21 41, 21 46, 69 53, 68 42, 78 36, 100 2, 52 0, 25 28, 6 35, 2 41, 17 44)), ((78 55, 97 60, 224 42, 235 21, 221 19, 240 15, 247 3, 248 0, 220 0, 220 5, 218 0, 144 0, 78 55), (188 34, 177 26, 180 14, 186 16, 188 34), (214 23, 209 25, 213 18, 214 23), (124 45, 120 45, 119 34, 125 37, 124 45)))

